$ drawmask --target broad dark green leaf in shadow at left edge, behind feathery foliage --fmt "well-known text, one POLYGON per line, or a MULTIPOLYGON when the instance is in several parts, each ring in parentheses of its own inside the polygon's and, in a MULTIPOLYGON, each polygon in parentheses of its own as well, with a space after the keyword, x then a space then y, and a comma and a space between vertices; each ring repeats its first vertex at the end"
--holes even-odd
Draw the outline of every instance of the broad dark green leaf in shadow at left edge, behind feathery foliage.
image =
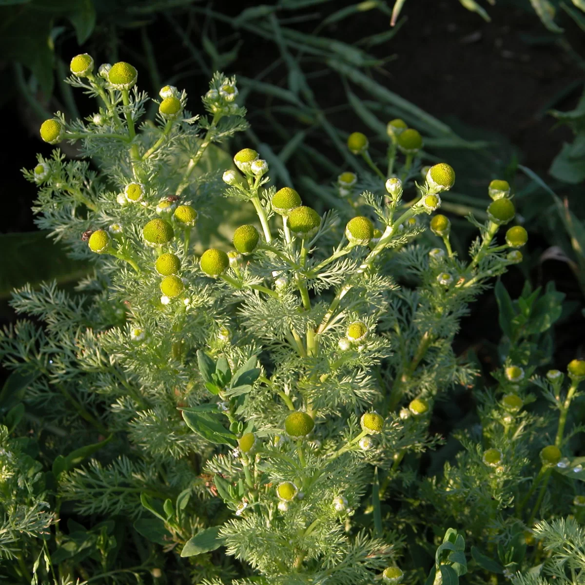
MULTIPOLYGON (((0 11, 1 13, 1 11, 0 11)), ((46 280, 63 284, 77 281, 91 271, 88 261, 72 260, 60 242, 47 241, 48 231, 0 234, 0 247, 11 250, 0 256, 0 298, 26 283, 46 280)))

